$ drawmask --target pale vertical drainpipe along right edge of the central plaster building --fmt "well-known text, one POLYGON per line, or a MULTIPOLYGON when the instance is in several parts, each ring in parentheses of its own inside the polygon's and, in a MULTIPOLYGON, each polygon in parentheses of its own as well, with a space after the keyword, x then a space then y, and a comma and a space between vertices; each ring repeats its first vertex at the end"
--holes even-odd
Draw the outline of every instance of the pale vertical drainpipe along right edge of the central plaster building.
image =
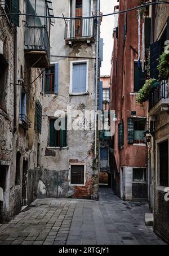
MULTIPOLYGON (((100 14, 100 0, 97 0, 97 16, 100 14)), ((95 157, 97 154, 97 92, 98 92, 98 63, 99 63, 99 18, 96 28, 96 77, 95 77, 95 157)))

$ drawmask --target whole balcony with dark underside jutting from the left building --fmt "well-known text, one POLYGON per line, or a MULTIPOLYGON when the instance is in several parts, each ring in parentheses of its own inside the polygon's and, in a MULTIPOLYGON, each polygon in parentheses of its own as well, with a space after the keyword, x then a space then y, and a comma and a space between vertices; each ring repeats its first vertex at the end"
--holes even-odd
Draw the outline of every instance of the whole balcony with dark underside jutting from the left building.
POLYGON ((50 41, 45 27, 25 26, 24 50, 31 67, 50 66, 50 41))

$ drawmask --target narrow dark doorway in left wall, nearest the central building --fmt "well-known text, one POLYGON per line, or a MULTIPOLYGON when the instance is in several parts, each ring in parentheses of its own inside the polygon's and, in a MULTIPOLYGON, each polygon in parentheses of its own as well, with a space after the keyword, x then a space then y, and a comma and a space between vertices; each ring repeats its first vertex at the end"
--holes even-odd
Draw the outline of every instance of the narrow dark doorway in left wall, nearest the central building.
POLYGON ((22 206, 27 205, 28 160, 23 160, 22 206))

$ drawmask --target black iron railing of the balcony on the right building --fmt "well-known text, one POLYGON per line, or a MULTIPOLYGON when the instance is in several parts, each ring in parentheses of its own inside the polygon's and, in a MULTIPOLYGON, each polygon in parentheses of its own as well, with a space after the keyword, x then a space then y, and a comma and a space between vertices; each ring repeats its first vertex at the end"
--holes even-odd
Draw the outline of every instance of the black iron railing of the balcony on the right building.
POLYGON ((162 98, 167 98, 166 80, 161 80, 152 90, 148 98, 148 111, 150 111, 162 98))

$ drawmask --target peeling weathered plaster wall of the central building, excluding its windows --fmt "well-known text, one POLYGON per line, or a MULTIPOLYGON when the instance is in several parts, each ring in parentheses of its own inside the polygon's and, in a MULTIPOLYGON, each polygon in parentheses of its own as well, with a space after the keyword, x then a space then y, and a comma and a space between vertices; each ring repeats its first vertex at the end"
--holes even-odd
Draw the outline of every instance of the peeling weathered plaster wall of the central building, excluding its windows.
MULTIPOLYGON (((91 1, 92 10, 96 12, 96 2, 91 1)), ((70 16, 70 1, 54 1, 55 15, 70 16), (59 4, 58 4, 59 3, 59 4)), ((68 131, 68 147, 54 149, 48 147, 49 118, 55 111, 94 110, 95 106, 95 43, 74 42, 70 47, 64 40, 64 20, 57 20, 51 29, 51 62, 59 62, 59 93, 43 95, 43 129, 42 129, 42 177, 38 196, 98 198, 98 168, 94 168, 94 131, 68 131), (88 60, 88 95, 70 96, 70 62, 88 60), (69 184, 69 165, 73 162, 86 165, 86 184, 72 186, 69 184)), ((73 121, 78 116, 73 116, 73 121)))

